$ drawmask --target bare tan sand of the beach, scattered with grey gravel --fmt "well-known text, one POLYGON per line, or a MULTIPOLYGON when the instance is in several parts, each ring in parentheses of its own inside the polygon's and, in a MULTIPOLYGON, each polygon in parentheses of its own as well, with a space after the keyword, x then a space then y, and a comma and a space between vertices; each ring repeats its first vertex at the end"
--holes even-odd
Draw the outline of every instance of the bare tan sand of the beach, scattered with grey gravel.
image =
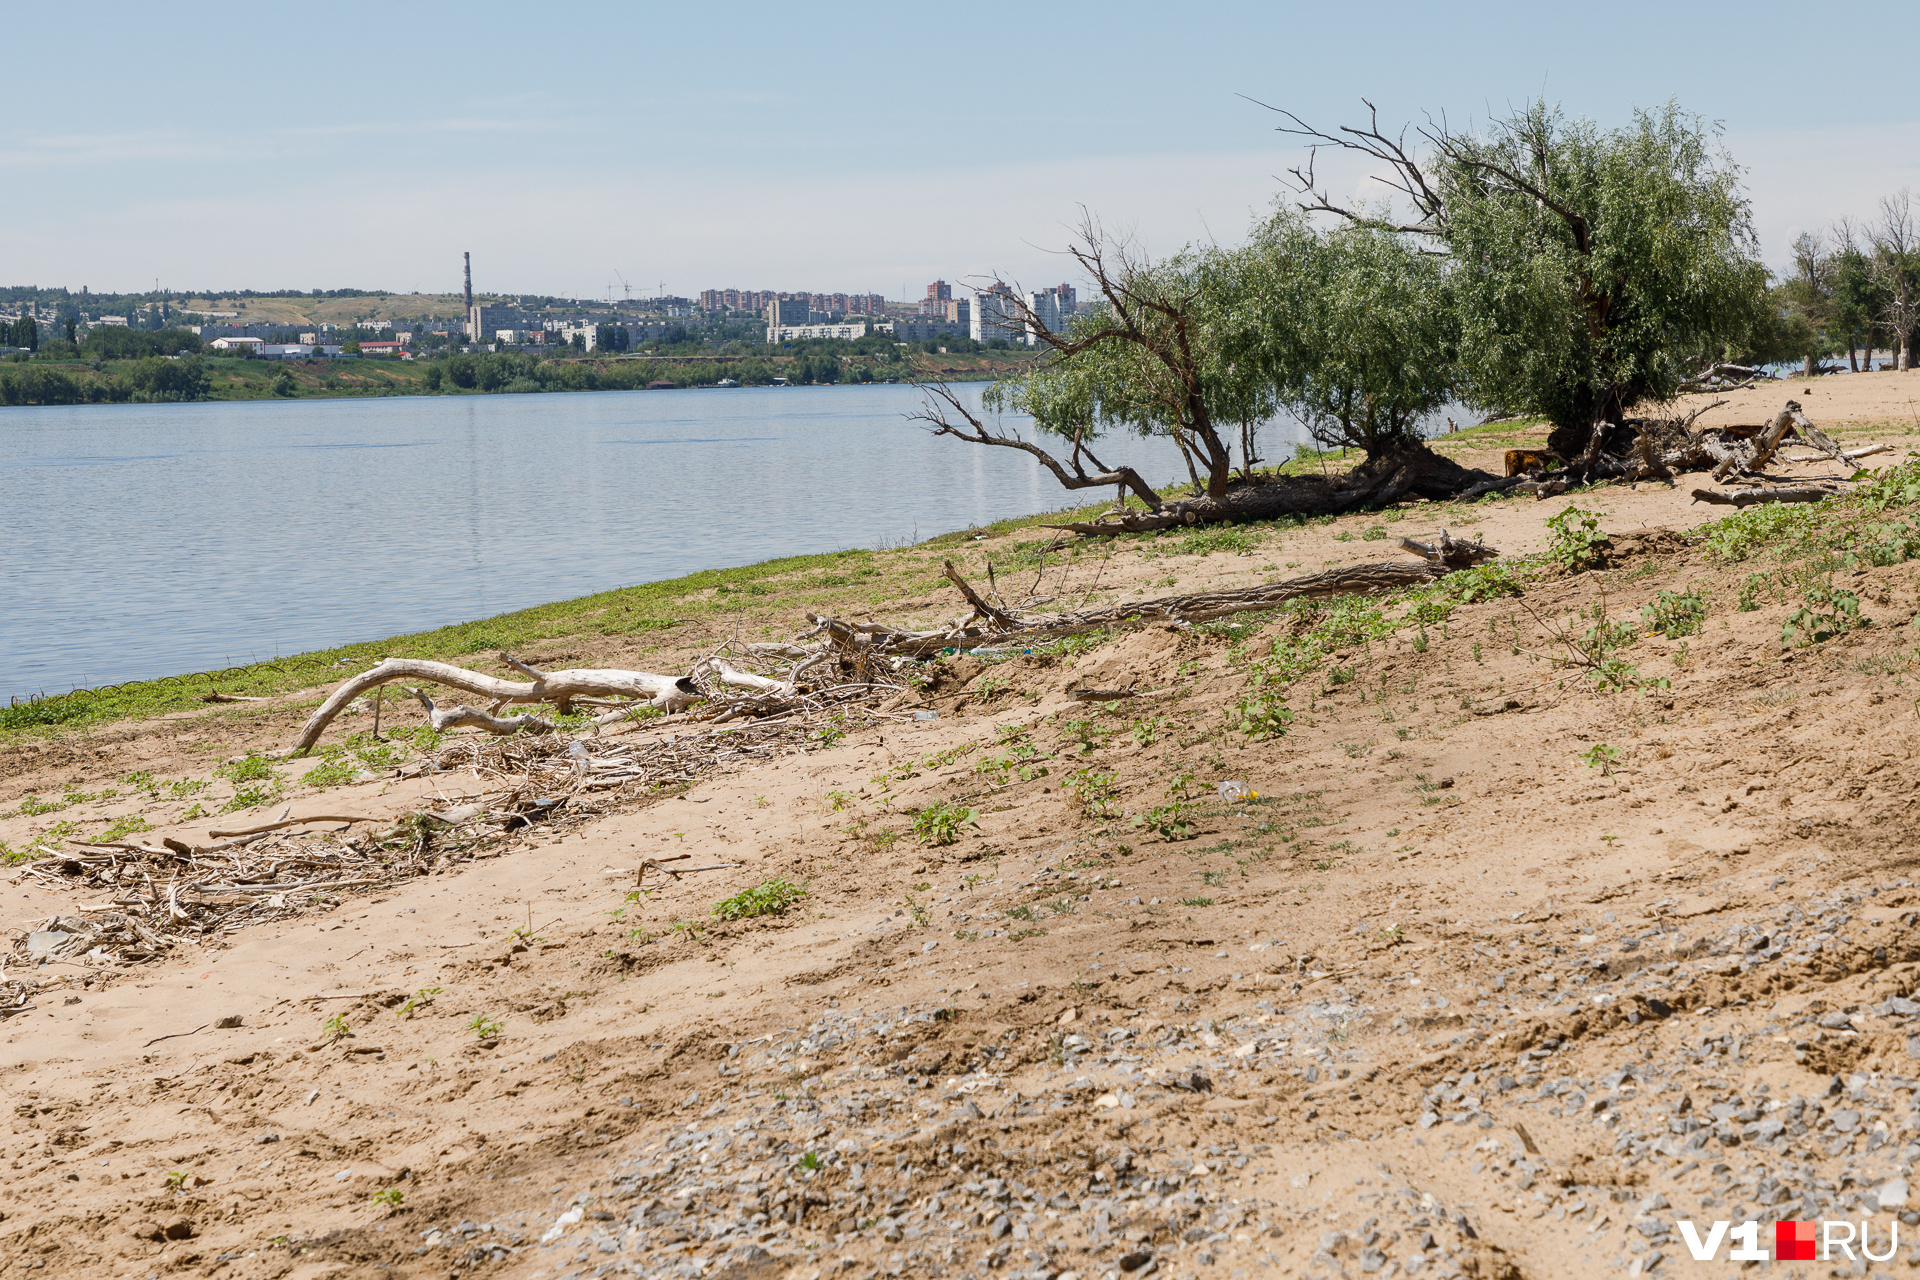
MULTIPOLYGON (((1920 374, 1715 415, 1759 420, 1782 390, 1899 457, 1920 374)), ((1626 537, 1724 514, 1693 480, 1580 495, 1611 568, 1532 585, 1532 614, 1496 599, 1423 647, 1356 645, 1350 679, 1288 693, 1279 739, 1225 729, 1246 664, 1223 635, 950 664, 918 702, 939 720, 204 950, 36 969, 0 1023, 0 1274, 1680 1274, 1678 1219, 1862 1213, 1878 1253, 1920 1155, 1920 583, 1843 568, 1872 626, 1784 652, 1793 601, 1736 603, 1770 560, 1626 537), (1711 601, 1703 633, 1624 651, 1667 687, 1597 695, 1534 656, 1542 622, 1603 595, 1638 620, 1680 589, 1711 601), (1156 693, 1089 716, 1077 679, 1156 693), (975 771, 1008 735, 1044 777, 975 771), (1190 773, 1188 839, 1089 816, 1083 770, 1131 814, 1190 773), (977 825, 918 842, 908 814, 937 800, 977 825), (626 902, 662 848, 735 865, 626 902), (799 910, 712 921, 772 877, 806 887, 799 910), (351 1036, 323 1034, 334 1015, 351 1036)), ((1083 557, 1046 585, 1258 581, 1380 558, 1377 524, 1519 555, 1563 505, 1411 505, 1252 555, 1083 557)), ((284 743, 294 702, 15 748, 0 841, 56 818, 17 814, 29 793, 284 743)), ((286 802, 401 816, 484 785, 286 802)), ((173 819, 221 787, 154 835, 219 825, 173 819)), ((0 879, 10 935, 90 900, 0 879)))

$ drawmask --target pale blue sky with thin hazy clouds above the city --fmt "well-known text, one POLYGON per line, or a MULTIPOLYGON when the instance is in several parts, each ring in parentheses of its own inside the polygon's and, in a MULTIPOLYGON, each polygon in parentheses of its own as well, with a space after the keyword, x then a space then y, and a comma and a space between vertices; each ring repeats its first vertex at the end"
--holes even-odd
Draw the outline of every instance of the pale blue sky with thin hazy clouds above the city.
POLYGON ((1864 10, 106 0, 6 31, 0 284, 457 292, 465 249, 501 294, 1039 288, 1075 280, 1083 211, 1148 253, 1242 238, 1304 157, 1260 102, 1617 127, 1676 100, 1724 129, 1776 267, 1920 186, 1905 42, 1864 10))

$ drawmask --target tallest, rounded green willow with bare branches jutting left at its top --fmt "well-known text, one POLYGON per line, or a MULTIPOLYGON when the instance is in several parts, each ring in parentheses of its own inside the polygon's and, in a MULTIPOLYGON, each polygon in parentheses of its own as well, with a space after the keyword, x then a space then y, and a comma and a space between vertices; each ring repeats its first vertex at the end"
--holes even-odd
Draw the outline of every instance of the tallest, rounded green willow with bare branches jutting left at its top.
POLYGON ((1336 201, 1311 152, 1292 171, 1304 209, 1446 255, 1461 390, 1480 407, 1542 415, 1584 443, 1766 319, 1740 169, 1718 129, 1672 104, 1609 130, 1534 102, 1480 132, 1430 123, 1411 142, 1377 113, 1332 132, 1283 115, 1281 132, 1313 150, 1380 165, 1402 217, 1336 201))

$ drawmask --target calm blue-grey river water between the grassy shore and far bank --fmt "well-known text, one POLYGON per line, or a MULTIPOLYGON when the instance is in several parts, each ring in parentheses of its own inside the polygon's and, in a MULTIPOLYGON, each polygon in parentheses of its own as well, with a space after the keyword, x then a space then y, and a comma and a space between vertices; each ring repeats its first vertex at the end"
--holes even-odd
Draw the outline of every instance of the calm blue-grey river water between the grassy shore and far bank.
MULTIPOLYGON (((908 424, 918 405, 870 386, 6 409, 0 699, 1071 501, 1021 453, 908 424)), ((1108 453, 1183 474, 1165 443, 1108 453)))

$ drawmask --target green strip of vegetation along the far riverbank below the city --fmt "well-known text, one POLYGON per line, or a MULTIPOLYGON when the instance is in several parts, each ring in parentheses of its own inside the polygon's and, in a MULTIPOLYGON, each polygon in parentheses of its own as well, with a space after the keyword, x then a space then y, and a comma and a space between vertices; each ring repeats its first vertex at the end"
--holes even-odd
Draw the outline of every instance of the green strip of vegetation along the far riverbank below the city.
POLYGON ((33 353, 15 353, 0 363, 0 405, 975 380, 1016 372, 1033 359, 1025 349, 966 338, 897 345, 885 336, 868 336, 778 347, 728 344, 720 353, 687 342, 651 344, 626 355, 582 355, 574 347, 555 347, 432 359, 342 355, 282 361, 221 355, 190 330, 94 328, 79 344, 52 338, 33 353))

